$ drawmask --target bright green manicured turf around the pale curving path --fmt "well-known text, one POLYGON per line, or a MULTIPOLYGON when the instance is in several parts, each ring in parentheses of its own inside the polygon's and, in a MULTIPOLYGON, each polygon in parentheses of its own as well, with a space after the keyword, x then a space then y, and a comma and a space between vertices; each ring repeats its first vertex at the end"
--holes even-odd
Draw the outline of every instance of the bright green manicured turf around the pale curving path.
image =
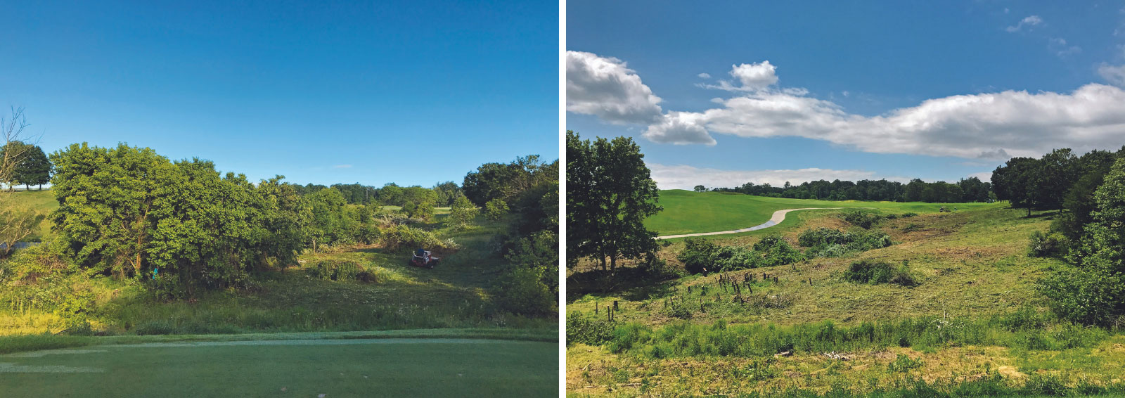
MULTIPOLYGON (((645 220, 659 235, 677 235, 753 227, 770 220, 776 210, 808 207, 874 208, 890 212, 937 212, 942 206, 958 210, 1006 206, 999 203, 925 203, 857 200, 811 200, 756 197, 730 192, 660 191, 664 211, 645 220)), ((817 210, 808 210, 817 211, 817 210)))

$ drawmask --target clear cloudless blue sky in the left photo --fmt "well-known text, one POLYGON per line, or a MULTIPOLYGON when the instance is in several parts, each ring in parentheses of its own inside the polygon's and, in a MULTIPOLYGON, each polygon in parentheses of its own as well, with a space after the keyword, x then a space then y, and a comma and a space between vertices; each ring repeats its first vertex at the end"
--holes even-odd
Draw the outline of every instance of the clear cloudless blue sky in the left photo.
POLYGON ((148 3, 0 1, 0 105, 46 152, 425 187, 558 157, 557 3, 148 3))

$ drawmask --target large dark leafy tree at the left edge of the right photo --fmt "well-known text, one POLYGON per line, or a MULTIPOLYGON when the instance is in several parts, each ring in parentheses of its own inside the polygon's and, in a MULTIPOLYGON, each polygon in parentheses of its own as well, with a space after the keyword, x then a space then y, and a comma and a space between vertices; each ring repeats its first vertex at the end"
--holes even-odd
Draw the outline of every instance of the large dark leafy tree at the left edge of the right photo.
POLYGON ((567 132, 568 264, 591 256, 612 270, 656 250, 642 221, 660 211, 659 191, 644 159, 631 138, 591 142, 567 132))

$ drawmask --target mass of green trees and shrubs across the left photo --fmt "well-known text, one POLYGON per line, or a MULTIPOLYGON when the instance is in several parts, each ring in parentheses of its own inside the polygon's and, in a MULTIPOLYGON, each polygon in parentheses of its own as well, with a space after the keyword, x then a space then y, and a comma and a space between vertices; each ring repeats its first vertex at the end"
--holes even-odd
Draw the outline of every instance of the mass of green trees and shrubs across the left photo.
MULTIPOLYGON (((348 188, 309 189, 285 182, 282 175, 255 183, 244 174, 220 173, 210 161, 171 161, 125 144, 72 144, 50 160, 60 206, 48 216, 55 242, 48 253, 39 252, 50 259, 40 262, 135 279, 173 297, 242 286, 254 273, 295 264, 298 254, 330 246, 380 243, 393 251, 449 244, 425 227, 433 218, 432 205, 441 198, 438 189, 399 190, 404 203, 417 200, 416 208, 430 207, 430 212, 406 214, 384 210, 377 202, 349 203, 344 192, 353 191, 348 188)), ((486 164, 466 179, 504 193, 489 197, 493 208, 506 210, 506 203, 496 202, 511 201, 512 217, 507 211, 493 217, 511 219, 512 226, 500 239, 503 251, 497 254, 513 262, 505 273, 510 283, 543 290, 538 293, 550 300, 549 307, 558 287, 548 270, 558 259, 557 161, 552 166, 528 156, 512 164, 525 175, 482 183, 479 174, 493 169, 486 164), (519 272, 525 280, 515 281, 519 272)), ((441 191, 458 191, 449 186, 456 183, 441 191)), ((448 195, 453 196, 448 225, 474 223, 480 208, 465 195, 448 195)))

